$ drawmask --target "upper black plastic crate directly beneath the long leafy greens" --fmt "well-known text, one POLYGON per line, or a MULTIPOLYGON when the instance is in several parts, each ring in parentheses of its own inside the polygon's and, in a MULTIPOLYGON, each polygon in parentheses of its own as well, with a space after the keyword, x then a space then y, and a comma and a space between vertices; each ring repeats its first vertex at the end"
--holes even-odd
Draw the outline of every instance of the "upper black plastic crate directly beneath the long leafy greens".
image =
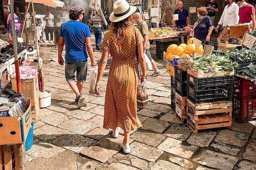
POLYGON ((217 87, 225 85, 227 88, 233 87, 234 76, 218 76, 208 78, 197 78, 190 74, 187 75, 187 84, 196 91, 204 90, 208 87, 217 87))

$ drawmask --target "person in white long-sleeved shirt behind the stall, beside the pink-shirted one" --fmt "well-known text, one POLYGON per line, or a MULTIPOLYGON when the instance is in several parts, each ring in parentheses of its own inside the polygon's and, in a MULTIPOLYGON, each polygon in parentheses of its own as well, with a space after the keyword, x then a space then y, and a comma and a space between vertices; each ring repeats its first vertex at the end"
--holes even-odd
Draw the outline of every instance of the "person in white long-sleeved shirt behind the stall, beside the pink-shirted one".
POLYGON ((239 21, 238 6, 233 2, 233 0, 226 0, 226 7, 220 17, 218 26, 216 26, 215 31, 218 32, 219 26, 225 27, 228 24, 237 24, 239 21))

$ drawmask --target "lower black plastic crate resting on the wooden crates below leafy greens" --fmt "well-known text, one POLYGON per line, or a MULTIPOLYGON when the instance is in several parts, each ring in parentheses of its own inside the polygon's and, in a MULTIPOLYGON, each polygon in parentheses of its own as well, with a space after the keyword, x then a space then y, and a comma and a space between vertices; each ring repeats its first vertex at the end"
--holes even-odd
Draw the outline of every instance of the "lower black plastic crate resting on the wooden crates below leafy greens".
POLYGON ((187 98, 195 104, 200 104, 206 100, 232 100, 232 87, 228 88, 225 85, 216 87, 206 87, 204 90, 196 91, 187 84, 187 98))

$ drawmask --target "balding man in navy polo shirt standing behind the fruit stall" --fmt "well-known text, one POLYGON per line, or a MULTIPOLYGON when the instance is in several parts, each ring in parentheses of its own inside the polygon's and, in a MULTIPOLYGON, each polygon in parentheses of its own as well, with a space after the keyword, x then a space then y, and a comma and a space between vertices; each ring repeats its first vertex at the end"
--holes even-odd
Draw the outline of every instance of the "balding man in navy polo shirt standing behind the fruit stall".
MULTIPOLYGON (((183 28, 189 24, 188 11, 186 8, 183 8, 183 2, 178 2, 178 8, 174 11, 174 14, 179 15, 179 20, 173 22, 173 26, 183 28), (187 23, 186 23, 187 21, 187 23)), ((184 41, 187 42, 187 37, 184 37, 184 41)), ((178 38, 178 43, 181 44, 181 37, 178 38)))

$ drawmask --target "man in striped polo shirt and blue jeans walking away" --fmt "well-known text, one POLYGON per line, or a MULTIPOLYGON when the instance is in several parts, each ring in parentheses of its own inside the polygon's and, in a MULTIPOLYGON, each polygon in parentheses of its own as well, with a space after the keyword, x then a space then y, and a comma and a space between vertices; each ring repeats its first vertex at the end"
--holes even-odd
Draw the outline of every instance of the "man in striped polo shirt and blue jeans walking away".
POLYGON ((100 44, 101 44, 101 27, 103 23, 102 17, 98 14, 98 10, 95 11, 95 16, 91 17, 91 20, 88 23, 88 26, 90 27, 91 24, 93 26, 93 32, 95 36, 95 43, 96 43, 96 50, 100 51, 100 44))

